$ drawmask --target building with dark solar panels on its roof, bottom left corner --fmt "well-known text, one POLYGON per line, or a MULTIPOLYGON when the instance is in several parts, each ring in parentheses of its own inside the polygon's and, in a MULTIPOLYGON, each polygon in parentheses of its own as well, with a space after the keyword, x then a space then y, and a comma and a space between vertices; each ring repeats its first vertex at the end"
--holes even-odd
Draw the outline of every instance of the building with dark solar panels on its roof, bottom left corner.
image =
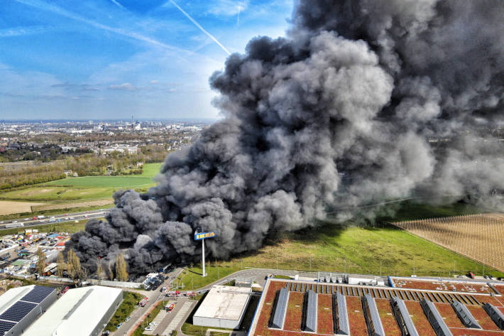
POLYGON ((21 335, 56 300, 56 288, 23 286, 0 296, 0 335, 21 335))

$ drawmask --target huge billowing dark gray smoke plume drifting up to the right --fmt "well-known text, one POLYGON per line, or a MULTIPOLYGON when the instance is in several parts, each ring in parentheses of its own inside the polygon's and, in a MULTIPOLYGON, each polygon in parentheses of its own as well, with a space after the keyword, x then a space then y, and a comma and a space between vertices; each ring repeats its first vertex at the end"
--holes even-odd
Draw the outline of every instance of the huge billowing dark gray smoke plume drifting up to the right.
MULTIPOLYGON (((254 38, 210 79, 224 119, 116 193, 67 246, 93 269, 216 258, 328 211, 411 195, 504 190, 504 1, 300 0, 286 38, 254 38)), ((369 214, 372 216, 372 214, 369 214)))

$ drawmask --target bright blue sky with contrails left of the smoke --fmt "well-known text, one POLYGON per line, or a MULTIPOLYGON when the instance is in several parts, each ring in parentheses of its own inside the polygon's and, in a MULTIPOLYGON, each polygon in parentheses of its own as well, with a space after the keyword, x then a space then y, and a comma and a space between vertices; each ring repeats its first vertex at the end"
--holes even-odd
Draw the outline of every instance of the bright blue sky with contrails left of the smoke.
POLYGON ((208 77, 254 36, 283 36, 292 5, 1 0, 0 119, 216 118, 208 77))

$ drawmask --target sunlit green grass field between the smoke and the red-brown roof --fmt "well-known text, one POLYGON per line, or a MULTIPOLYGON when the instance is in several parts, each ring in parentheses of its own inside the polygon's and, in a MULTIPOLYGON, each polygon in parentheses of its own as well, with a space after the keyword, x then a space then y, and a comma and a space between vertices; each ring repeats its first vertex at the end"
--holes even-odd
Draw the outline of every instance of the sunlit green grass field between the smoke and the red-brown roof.
MULTIPOLYGON (((346 227, 325 224, 318 229, 283 232, 270 238, 265 246, 230 261, 207 264, 208 276, 202 278, 199 265, 185 270, 178 278, 184 288, 197 289, 219 278, 248 267, 299 271, 340 271, 383 275, 448 276, 471 270, 481 275, 483 265, 415 237, 392 226, 346 227)), ((485 273, 504 276, 498 271, 485 273)))

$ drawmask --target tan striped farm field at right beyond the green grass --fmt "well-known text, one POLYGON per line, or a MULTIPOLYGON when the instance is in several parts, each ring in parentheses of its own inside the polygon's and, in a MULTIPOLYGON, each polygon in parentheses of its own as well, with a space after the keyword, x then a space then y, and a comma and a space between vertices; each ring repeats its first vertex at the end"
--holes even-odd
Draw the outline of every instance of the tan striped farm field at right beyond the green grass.
POLYGON ((504 271, 504 217, 502 214, 464 215, 390 222, 390 224, 499 271, 504 271))

